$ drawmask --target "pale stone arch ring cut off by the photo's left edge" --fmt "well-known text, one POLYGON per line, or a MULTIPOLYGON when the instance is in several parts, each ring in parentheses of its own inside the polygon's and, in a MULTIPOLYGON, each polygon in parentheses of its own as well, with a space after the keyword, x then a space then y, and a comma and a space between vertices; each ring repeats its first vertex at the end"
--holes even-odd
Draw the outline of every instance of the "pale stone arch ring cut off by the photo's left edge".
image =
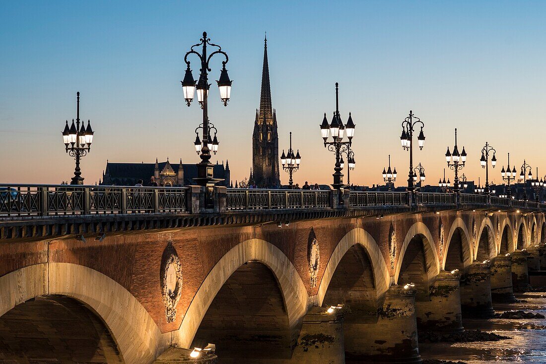
POLYGON ((51 295, 70 297, 90 308, 111 331, 126 362, 151 362, 168 345, 150 314, 129 291, 110 277, 78 264, 37 264, 0 277, 0 316, 25 301, 51 295))

